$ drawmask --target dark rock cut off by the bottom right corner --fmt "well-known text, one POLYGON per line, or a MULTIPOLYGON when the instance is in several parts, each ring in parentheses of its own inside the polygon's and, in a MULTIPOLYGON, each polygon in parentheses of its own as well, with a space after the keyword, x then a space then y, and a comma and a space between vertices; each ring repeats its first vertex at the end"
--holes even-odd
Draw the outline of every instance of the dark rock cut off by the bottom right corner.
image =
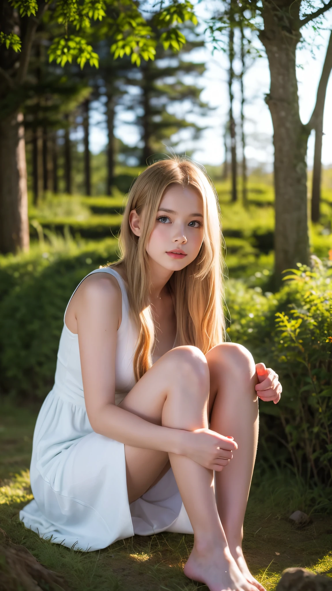
POLYGON ((332 591, 332 579, 307 569, 287 569, 275 591, 332 591))

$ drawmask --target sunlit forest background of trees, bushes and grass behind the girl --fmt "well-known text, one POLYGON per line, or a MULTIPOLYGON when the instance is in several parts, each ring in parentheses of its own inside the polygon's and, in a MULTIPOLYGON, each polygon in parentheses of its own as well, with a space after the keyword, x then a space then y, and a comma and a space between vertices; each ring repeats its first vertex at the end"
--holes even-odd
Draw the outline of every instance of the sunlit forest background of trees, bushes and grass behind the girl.
MULTIPOLYGON (((5 547, 28 548, 64 588, 196 588, 181 570, 190 536, 86 555, 26 532, 18 511, 31 498, 34 421, 53 385, 66 303, 84 275, 117 258, 126 193, 145 165, 197 154, 216 113, 216 98, 201 92, 212 60, 222 63, 227 114, 220 164, 204 164, 222 213, 227 337, 278 371, 284 387, 278 405, 260 405, 246 556, 267 589, 288 566, 332 573, 332 169, 321 167, 323 131, 331 143, 323 113, 332 3, 202 6, 1 2, 0 527, 5 547), (302 123, 296 51, 319 44, 317 98, 302 123), (274 151, 268 134, 249 131, 246 80, 261 56, 274 151), (96 112, 107 141, 92 154, 96 112), (119 121, 135 130, 134 145, 119 121), (250 161, 250 147, 269 151, 274 173, 250 161), (297 509, 308 515, 301 528, 288 521, 297 509)), ((4 564, 0 583, 7 577, 5 588, 17 589, 4 564)))

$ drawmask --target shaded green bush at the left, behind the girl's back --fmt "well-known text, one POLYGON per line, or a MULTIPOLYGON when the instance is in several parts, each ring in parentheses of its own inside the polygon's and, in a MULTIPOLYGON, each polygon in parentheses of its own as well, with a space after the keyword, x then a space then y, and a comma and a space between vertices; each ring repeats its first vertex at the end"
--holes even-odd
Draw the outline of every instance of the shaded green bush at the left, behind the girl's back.
POLYGON ((116 260, 115 239, 56 245, 30 255, 0 258, 0 389, 43 399, 53 386, 64 310, 77 284, 116 260), (62 248, 61 248, 62 246, 62 248))

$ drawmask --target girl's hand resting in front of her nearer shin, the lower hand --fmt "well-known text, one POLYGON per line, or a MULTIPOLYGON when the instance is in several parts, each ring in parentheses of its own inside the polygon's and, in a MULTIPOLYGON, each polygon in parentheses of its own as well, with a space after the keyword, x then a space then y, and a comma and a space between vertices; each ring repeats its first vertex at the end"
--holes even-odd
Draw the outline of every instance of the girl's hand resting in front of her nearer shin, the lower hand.
POLYGON ((233 437, 224 437, 210 429, 185 431, 181 455, 190 457, 209 470, 221 472, 233 457, 237 443, 233 437))

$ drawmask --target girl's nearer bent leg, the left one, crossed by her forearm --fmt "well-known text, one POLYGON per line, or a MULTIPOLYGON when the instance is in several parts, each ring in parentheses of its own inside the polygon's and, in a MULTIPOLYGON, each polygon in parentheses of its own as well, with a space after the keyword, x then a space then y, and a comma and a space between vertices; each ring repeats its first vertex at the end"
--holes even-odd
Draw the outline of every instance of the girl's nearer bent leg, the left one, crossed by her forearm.
MULTIPOLYGON (((122 408, 167 427, 195 430, 207 427, 209 369, 200 350, 180 347, 166 353, 121 402, 122 408)), ((165 465, 161 452, 125 446, 129 498, 146 491, 165 465), (149 454, 149 456, 147 455, 149 454), (156 454, 153 456, 153 454, 156 454)), ((194 548, 185 574, 206 583, 210 591, 253 591, 230 555, 217 511, 213 472, 193 460, 169 454, 181 497, 194 530, 194 548)))

